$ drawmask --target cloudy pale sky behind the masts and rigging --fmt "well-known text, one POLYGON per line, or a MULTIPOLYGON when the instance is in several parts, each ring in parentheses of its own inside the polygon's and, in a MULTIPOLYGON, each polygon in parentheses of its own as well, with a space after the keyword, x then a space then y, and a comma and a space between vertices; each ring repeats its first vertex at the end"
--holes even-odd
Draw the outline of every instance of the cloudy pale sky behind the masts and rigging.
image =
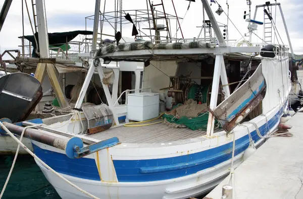
MULTIPOLYGON (((217 0, 221 4, 223 10, 227 13, 226 0, 217 0)), ((3 52, 5 49, 16 49, 19 48, 18 45, 21 45, 21 40, 18 36, 22 35, 22 7, 21 0, 14 0, 11 9, 9 10, 7 19, 4 23, 2 31, 0 32, 0 52, 3 52)), ((30 7, 30 14, 32 17, 31 11, 31 1, 27 0, 30 7)), ((104 5, 104 0, 101 1, 102 10, 104 5)), ((143 9, 146 10, 146 1, 145 0, 122 0, 123 10, 134 10, 134 9, 143 9)), ((160 0, 154 0, 154 4, 159 4, 160 0)), ((230 20, 236 25, 237 29, 243 35, 247 32, 247 22, 243 20, 243 12, 248 11, 246 5, 246 0, 228 0, 229 4, 229 16, 230 20)), ((0 0, 0 8, 2 8, 4 0, 0 0)), ((178 17, 184 17, 189 2, 185 0, 174 0, 176 11, 178 17)), ((255 6, 264 4, 263 0, 252 0, 252 12, 255 12, 255 6)), ((274 1, 272 1, 274 3, 274 1)), ((282 5, 282 10, 284 12, 284 17, 287 23, 287 28, 290 35, 290 40, 294 49, 294 53, 303 54, 303 36, 302 30, 303 26, 303 1, 302 0, 280 0, 282 5)), ((172 1, 164 0, 166 13, 175 15, 173 10, 172 1)), ((45 0, 46 7, 46 17, 47 17, 47 28, 48 32, 64 32, 72 30, 85 30, 85 17, 93 15, 94 13, 94 0, 45 0)), ((25 8, 25 5, 24 5, 25 8)), ((158 9, 158 8, 157 8, 158 9)), ((218 9, 217 4, 212 4, 213 11, 218 9)), ((107 1, 106 12, 114 10, 114 1, 107 1)), ((159 8, 159 10, 161 10, 159 8)), ((274 13, 274 9, 273 9, 274 13)), ((278 12, 277 12, 278 13, 278 12)), ((216 14, 215 14, 216 15, 216 14)), ((227 17, 223 13, 221 16, 216 15, 217 21, 226 24, 227 17)), ((256 20, 263 21, 263 11, 262 9, 258 10, 258 15, 256 20)), ((277 14, 276 18, 277 28, 279 34, 282 37, 282 40, 285 44, 288 44, 285 30, 283 28, 283 23, 281 20, 280 14, 277 14)), ((201 26, 203 21, 203 12, 202 12, 202 3, 199 0, 191 2, 190 8, 185 15, 185 18, 182 22, 181 28, 185 38, 197 37, 199 33, 199 28, 196 26, 201 26)), ((31 35, 31 28, 29 24, 29 19, 24 10, 24 26, 25 26, 25 35, 31 35)), ((87 29, 92 30, 92 20, 87 21, 87 29)), ((144 28, 146 24, 141 24, 141 28, 144 28)), ((137 27, 138 28, 138 27, 137 27)), ((146 28, 146 27, 145 27, 146 28)), ((175 29, 175 28, 172 28, 175 29)), ((146 30, 145 30, 146 31, 146 30)), ((113 34, 113 29, 105 24, 104 32, 108 34, 113 34)), ((175 30, 172 30, 172 35, 175 35, 175 30)), ((239 40, 241 39, 240 33, 235 29, 232 23, 229 22, 229 39, 239 40)), ((259 30, 256 32, 260 37, 263 37, 263 27, 260 26, 259 30)), ((129 27, 123 29, 122 34, 124 36, 131 36, 131 31, 129 27)), ((178 37, 181 37, 180 31, 178 31, 178 37)), ((246 38, 247 39, 247 38, 246 38)), ((260 42, 260 39, 253 40, 255 42, 260 42)))

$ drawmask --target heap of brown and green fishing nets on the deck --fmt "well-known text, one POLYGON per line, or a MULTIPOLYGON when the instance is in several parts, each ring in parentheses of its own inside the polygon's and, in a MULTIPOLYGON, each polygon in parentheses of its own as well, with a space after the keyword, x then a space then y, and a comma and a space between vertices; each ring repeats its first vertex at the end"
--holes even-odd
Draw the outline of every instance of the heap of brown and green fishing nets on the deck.
MULTIPOLYGON (((191 130, 206 130, 208 123, 207 104, 197 104, 193 99, 187 100, 184 104, 178 104, 162 116, 164 123, 175 128, 188 127, 191 130)), ((215 124, 218 121, 215 120, 215 124)))

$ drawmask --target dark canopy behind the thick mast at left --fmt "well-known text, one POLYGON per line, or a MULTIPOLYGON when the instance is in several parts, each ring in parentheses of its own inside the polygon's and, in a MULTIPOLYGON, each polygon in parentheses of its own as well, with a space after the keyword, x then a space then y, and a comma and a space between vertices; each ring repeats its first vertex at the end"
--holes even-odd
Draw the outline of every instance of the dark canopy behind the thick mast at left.
MULTIPOLYGON (((70 42, 75 37, 77 37, 79 34, 80 35, 92 35, 92 31, 76 30, 76 31, 70 31, 70 32, 48 33, 48 42, 49 42, 49 45, 53 45, 53 46, 59 47, 63 43, 66 43, 66 41, 70 42)), ((36 37, 37 42, 39 44, 39 39, 38 39, 39 36, 38 36, 37 32, 35 33, 35 37, 36 37)), ((38 55, 36 55, 36 53, 35 53, 35 50, 36 50, 37 46, 36 46, 36 42, 35 42, 34 36, 33 35, 27 35, 27 36, 24 36, 24 38, 27 39, 27 40, 29 40, 30 42, 32 42, 32 45, 33 45, 32 57, 38 57, 38 55)))

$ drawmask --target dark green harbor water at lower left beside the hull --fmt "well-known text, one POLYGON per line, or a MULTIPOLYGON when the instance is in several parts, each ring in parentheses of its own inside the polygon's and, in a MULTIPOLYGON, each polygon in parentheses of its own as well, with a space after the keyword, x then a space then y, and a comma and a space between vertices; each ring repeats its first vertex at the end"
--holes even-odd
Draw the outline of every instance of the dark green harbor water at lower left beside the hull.
MULTIPOLYGON (((12 167, 14 155, 0 156, 1 190, 12 167)), ((30 155, 19 155, 3 195, 7 198, 60 198, 30 155)))

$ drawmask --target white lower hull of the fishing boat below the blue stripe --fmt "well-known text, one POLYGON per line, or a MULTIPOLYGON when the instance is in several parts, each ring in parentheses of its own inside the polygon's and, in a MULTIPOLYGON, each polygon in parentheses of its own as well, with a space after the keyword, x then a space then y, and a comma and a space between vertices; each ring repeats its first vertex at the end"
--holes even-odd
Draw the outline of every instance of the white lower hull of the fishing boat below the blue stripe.
MULTIPOLYGON (((242 154, 235 157, 234 165, 237 167, 242 162, 242 154)), ((58 194, 65 199, 89 198, 87 195, 68 185, 51 171, 47 170, 39 162, 37 165, 49 182, 55 187, 58 194)), ((81 178, 63 175, 72 183, 78 185, 98 198, 111 199, 181 199, 190 196, 197 196, 208 192, 218 185, 230 172, 231 160, 216 165, 192 175, 185 177, 153 181, 153 182, 102 182, 85 180, 81 178)))

